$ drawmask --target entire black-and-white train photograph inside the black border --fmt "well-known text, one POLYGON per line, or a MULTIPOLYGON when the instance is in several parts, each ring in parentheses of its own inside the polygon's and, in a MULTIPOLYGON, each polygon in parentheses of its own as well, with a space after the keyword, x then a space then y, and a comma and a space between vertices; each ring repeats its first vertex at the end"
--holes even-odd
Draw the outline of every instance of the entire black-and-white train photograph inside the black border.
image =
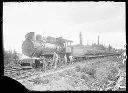
POLYGON ((3 51, 29 91, 126 91, 126 4, 3 2, 3 51))

